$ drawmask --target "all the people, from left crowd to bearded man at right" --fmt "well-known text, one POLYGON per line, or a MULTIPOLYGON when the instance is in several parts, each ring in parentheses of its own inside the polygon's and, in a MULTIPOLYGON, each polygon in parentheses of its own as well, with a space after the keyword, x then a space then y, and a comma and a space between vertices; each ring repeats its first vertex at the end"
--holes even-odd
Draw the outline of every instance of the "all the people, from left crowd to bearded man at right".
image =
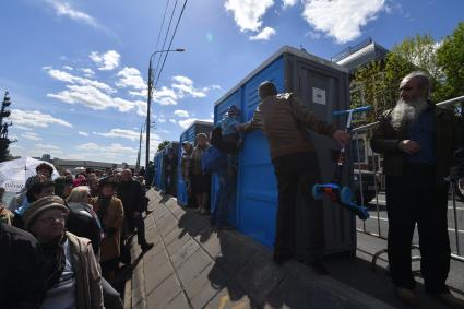
MULTIPOLYGON (((296 219, 301 219, 308 236, 302 262, 319 274, 328 274, 323 204, 310 193, 312 185, 321 182, 318 145, 306 129, 340 145, 349 143, 350 136, 319 119, 294 94, 278 94, 272 82, 262 83, 258 93, 261 104, 249 122, 240 123, 240 110, 231 106, 211 136, 199 133, 194 144, 181 145, 180 174, 188 203, 200 214, 210 213, 215 174, 219 190, 210 222, 218 229, 230 227, 227 213, 237 186, 237 154, 243 134, 261 129, 269 142, 278 191, 273 261, 282 265, 295 258, 296 219), (205 164, 212 148, 223 158, 214 170, 205 164), (302 218, 296 217, 298 194, 307 207, 302 218)), ((451 258, 445 177, 453 165, 453 152, 463 145, 463 131, 453 111, 436 106, 429 97, 430 81, 425 73, 406 75, 398 102, 381 115, 371 139, 372 150, 384 155, 390 272, 395 295, 416 307, 411 242, 417 224, 426 292, 450 308, 464 308, 445 285, 451 258)), ((172 194, 169 186, 177 170, 172 151, 167 163, 166 193, 172 194)), ((37 166, 37 175, 27 179, 8 207, 0 207, 0 305, 121 308, 111 284, 121 262, 128 262, 128 239, 136 231, 142 251, 153 247, 146 241, 142 216, 147 211, 143 178, 134 179, 130 169, 103 178, 87 170, 76 177, 63 171, 52 181, 51 173, 47 164, 37 166)))

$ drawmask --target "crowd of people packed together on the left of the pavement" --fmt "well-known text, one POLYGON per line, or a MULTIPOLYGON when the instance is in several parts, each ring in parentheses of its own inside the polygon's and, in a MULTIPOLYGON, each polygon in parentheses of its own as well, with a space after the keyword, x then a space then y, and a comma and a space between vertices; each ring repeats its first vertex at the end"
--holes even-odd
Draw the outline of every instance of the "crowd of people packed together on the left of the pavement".
POLYGON ((143 177, 132 170, 51 179, 43 163, 9 205, 0 205, 1 308, 123 308, 118 271, 130 240, 146 241, 143 177))

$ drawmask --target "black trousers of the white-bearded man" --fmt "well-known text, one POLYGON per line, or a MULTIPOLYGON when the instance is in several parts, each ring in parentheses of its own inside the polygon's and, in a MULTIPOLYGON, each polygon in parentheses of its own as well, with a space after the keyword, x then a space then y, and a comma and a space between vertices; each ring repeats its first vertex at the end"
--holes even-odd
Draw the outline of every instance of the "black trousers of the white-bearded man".
POLYGON ((447 293, 450 271, 448 186, 437 186, 435 166, 406 163, 403 176, 386 177, 389 262, 393 283, 414 288, 411 241, 417 223, 426 290, 447 293))

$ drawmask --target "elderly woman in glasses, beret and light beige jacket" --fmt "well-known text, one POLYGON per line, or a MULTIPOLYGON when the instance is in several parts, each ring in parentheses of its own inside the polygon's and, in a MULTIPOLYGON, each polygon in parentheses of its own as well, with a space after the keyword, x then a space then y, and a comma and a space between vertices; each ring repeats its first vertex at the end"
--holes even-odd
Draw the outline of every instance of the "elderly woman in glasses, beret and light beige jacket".
POLYGON ((59 197, 45 197, 23 214, 24 227, 44 251, 47 280, 40 308, 104 308, 100 272, 91 241, 64 231, 69 210, 59 197))

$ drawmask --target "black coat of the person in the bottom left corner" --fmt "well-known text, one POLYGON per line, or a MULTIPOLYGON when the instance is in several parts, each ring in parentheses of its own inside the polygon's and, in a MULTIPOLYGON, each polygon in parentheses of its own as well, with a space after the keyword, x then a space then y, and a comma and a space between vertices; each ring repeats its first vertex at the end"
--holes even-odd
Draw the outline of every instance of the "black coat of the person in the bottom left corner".
POLYGON ((46 292, 43 251, 29 233, 0 223, 0 307, 39 308, 46 292))

